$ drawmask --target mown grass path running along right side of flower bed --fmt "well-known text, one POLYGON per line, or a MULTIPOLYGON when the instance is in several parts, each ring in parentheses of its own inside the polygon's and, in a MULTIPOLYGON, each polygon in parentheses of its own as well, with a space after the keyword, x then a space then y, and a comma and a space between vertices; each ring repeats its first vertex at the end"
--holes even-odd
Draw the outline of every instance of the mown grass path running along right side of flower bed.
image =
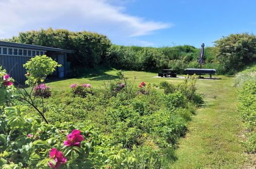
POLYGON ((242 168, 247 160, 239 143, 243 123, 236 112, 232 78, 199 80, 205 104, 196 111, 180 140, 178 160, 170 168, 242 168))

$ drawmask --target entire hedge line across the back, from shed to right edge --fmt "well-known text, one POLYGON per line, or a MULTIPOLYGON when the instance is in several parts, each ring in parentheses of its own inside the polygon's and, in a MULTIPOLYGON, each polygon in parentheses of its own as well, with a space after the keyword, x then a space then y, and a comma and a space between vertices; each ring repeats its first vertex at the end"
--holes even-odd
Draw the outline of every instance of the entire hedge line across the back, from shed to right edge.
MULTIPOLYGON (((21 32, 9 41, 73 50, 68 60, 77 66, 93 68, 108 62, 116 69, 157 72, 174 69, 184 73, 186 68, 200 68, 199 48, 193 46, 136 47, 110 43, 105 35, 91 32, 71 32, 51 28, 21 32)), ((216 69, 218 74, 234 74, 256 59, 256 37, 253 34, 230 34, 214 41, 215 47, 205 48, 205 69, 216 69)))

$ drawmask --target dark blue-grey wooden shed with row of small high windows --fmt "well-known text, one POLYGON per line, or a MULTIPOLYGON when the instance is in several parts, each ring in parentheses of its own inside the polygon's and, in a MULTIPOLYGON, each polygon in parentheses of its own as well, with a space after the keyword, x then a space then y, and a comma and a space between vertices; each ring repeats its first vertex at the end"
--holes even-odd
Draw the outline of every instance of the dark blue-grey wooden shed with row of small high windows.
POLYGON ((17 82, 24 83, 27 78, 25 77, 26 69, 23 64, 36 55, 47 55, 62 65, 53 72, 53 75, 63 78, 67 72, 66 59, 68 53, 72 53, 72 51, 0 41, 0 66, 6 69, 7 73, 17 82))

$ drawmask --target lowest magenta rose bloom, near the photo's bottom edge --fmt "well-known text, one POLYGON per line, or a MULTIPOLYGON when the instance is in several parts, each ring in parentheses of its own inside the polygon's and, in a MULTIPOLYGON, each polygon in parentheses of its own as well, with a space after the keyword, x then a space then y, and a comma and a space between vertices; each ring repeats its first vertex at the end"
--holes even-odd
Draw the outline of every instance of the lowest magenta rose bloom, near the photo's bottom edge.
POLYGON ((50 151, 50 158, 56 161, 55 165, 53 165, 52 162, 49 161, 49 166, 51 168, 58 168, 62 165, 62 163, 66 163, 67 161, 67 159, 63 157, 63 153, 55 148, 52 148, 52 150, 50 151))

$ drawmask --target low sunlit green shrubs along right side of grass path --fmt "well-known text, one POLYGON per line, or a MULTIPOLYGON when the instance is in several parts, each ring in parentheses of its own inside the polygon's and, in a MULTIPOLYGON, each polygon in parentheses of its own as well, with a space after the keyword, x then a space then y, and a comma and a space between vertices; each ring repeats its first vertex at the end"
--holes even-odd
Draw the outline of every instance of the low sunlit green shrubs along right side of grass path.
POLYGON ((238 112, 247 124, 249 133, 244 145, 248 152, 256 151, 256 66, 239 73, 234 84, 238 87, 238 112))

